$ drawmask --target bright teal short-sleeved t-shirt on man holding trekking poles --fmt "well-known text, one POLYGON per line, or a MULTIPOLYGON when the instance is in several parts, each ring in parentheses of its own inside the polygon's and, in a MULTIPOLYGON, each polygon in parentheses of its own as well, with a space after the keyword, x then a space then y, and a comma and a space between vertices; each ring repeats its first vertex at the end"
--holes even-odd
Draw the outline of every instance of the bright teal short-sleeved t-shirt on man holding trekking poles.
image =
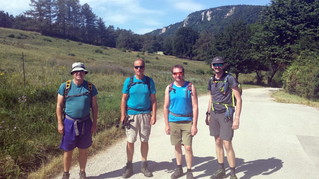
MULTIPOLYGON (((133 76, 133 82, 146 82, 146 76, 141 80, 136 79, 135 75, 133 76)), ((155 84, 152 78, 150 78, 150 86, 151 90, 148 89, 148 86, 146 83, 135 83, 131 86, 129 90, 129 84, 130 84, 130 77, 127 78, 123 85, 123 92, 124 94, 129 95, 129 99, 127 100, 127 106, 129 106, 132 109, 142 110, 142 111, 135 111, 135 110, 128 110, 127 114, 133 115, 133 114, 140 114, 140 113, 146 113, 151 112, 151 99, 150 94, 155 94, 155 84)))

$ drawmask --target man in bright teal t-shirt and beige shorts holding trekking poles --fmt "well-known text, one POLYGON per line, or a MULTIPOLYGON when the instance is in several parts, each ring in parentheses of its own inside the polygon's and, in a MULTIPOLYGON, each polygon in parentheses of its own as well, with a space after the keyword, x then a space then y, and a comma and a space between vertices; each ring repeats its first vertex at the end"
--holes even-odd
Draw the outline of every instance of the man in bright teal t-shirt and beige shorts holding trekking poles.
POLYGON ((143 59, 136 59, 133 69, 135 75, 125 80, 122 92, 121 123, 126 115, 130 117, 130 120, 134 119, 134 122, 130 122, 130 129, 126 128, 127 163, 122 177, 129 178, 133 175, 132 161, 137 133, 141 140, 141 173, 146 177, 151 177, 152 172, 148 169, 147 154, 151 125, 156 123, 156 90, 153 79, 144 75, 145 62, 143 59))

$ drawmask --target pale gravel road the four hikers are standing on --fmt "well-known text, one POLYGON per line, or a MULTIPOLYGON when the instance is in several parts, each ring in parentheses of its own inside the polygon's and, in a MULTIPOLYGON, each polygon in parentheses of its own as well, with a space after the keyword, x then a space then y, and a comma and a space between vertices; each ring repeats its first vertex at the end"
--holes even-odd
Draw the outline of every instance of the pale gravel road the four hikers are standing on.
MULTIPOLYGON (((269 93, 278 88, 243 90, 240 128, 235 131, 233 147, 236 173, 240 179, 303 178, 319 179, 319 110, 300 104, 274 102, 269 93)), ((194 178, 209 178, 218 169, 214 138, 205 125, 209 96, 198 98, 198 133, 193 139, 194 178)), ((174 146, 166 135, 163 111, 158 111, 149 141, 149 169, 152 179, 170 178, 176 168, 174 146)), ((126 139, 91 157, 86 166, 88 179, 122 178, 126 159, 126 139)), ((185 154, 183 150, 183 154, 185 154)), ((183 156, 184 158, 184 156, 183 156)), ((134 175, 140 173, 140 142, 135 144, 134 175)), ((185 158, 183 169, 186 171, 185 158)), ((225 157, 226 175, 229 176, 225 157)), ((70 170, 78 179, 79 166, 70 170)), ((61 175, 56 177, 60 179, 61 175)), ((186 179, 186 175, 181 177, 186 179)))

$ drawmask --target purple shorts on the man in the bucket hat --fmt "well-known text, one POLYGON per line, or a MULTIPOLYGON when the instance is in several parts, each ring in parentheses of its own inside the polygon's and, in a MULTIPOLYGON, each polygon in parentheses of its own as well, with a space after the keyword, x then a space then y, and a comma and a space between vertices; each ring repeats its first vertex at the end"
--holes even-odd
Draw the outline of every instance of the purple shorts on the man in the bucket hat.
POLYGON ((62 136, 60 148, 65 151, 70 151, 75 149, 75 147, 81 149, 87 149, 92 145, 92 120, 87 119, 84 123, 78 122, 78 132, 79 135, 75 135, 74 121, 67 118, 64 119, 64 134, 62 136), (84 127, 84 134, 82 134, 82 127, 84 127))

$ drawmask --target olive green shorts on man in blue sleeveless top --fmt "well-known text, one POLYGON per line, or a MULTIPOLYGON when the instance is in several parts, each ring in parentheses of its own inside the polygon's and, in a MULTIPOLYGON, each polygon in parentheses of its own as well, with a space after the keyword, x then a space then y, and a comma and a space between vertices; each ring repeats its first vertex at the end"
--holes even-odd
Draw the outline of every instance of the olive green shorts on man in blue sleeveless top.
POLYGON ((171 128, 171 144, 192 146, 193 136, 191 133, 193 121, 169 122, 171 128))

